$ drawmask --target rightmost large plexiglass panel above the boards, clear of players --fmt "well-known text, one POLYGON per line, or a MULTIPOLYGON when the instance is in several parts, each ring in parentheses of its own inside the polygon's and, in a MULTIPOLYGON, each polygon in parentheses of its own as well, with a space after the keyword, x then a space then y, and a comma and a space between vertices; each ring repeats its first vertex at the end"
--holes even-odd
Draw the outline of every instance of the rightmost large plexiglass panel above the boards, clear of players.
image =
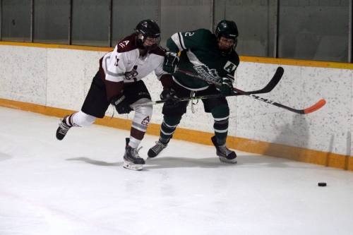
POLYGON ((348 60, 349 1, 280 1, 280 58, 348 60))

